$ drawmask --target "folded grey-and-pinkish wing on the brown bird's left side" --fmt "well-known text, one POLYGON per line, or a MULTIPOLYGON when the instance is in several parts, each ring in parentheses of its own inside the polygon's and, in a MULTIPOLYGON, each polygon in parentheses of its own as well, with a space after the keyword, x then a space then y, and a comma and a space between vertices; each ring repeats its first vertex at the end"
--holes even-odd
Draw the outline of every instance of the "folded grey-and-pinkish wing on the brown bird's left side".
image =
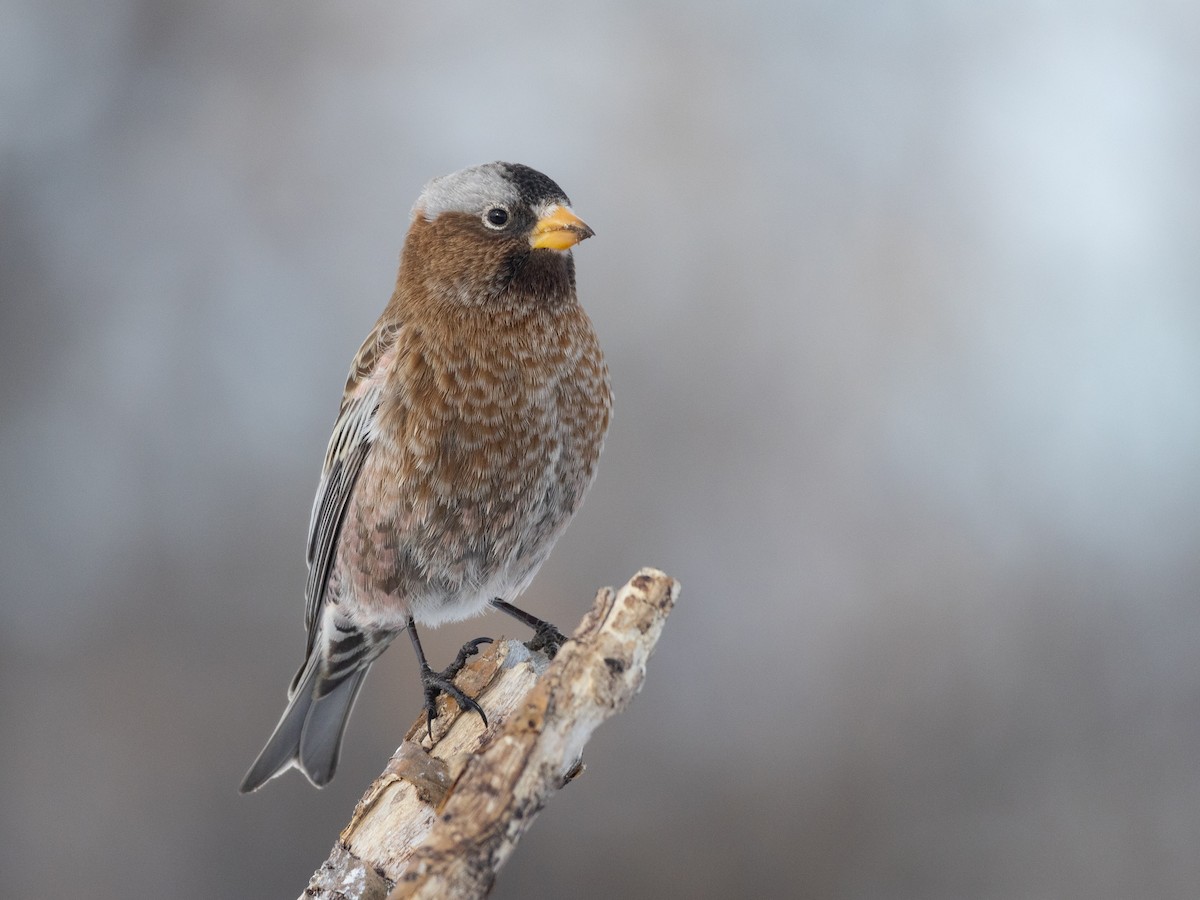
POLYGON ((371 451, 376 413, 383 400, 384 382, 402 328, 397 322, 380 319, 359 348, 346 379, 342 407, 325 451, 325 466, 308 522, 305 625, 310 652, 317 637, 325 588, 337 552, 337 536, 354 482, 371 451))

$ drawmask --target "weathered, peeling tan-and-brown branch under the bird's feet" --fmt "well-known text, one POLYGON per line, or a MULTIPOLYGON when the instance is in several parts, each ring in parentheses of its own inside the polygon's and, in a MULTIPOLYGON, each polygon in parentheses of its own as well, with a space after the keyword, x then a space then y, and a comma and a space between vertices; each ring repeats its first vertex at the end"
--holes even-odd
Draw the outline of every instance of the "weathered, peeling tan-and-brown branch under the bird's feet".
POLYGON ((493 644, 456 679, 491 726, 442 698, 359 800, 304 898, 479 898, 550 797, 582 768, 596 726, 641 689, 679 583, 643 569, 604 588, 553 661, 493 644))

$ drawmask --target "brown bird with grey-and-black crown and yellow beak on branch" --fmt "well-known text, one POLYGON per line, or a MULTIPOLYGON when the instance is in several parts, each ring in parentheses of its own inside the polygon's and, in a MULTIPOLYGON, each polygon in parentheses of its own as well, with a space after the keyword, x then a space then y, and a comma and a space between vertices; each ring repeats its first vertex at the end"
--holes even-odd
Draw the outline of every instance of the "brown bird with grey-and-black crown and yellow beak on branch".
POLYGON ((305 661, 241 782, 337 769, 371 664, 408 631, 432 733, 440 694, 416 626, 496 608, 553 653, 566 638, 512 604, 575 515, 612 416, 608 370, 576 293, 594 234, 548 176, 491 162, 434 178, 413 205, 396 287, 355 355, 308 527, 305 661))

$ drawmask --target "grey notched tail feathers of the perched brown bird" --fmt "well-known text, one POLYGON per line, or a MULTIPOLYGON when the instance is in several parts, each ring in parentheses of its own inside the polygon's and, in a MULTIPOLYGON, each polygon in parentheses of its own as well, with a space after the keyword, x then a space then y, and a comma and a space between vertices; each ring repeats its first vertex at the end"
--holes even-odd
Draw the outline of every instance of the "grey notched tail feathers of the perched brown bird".
POLYGON ((334 682, 322 672, 320 652, 314 648, 296 673, 288 708, 275 726, 263 752, 241 780, 242 793, 257 791, 276 775, 295 766, 317 787, 324 787, 337 770, 342 734, 350 709, 367 674, 367 665, 334 682))

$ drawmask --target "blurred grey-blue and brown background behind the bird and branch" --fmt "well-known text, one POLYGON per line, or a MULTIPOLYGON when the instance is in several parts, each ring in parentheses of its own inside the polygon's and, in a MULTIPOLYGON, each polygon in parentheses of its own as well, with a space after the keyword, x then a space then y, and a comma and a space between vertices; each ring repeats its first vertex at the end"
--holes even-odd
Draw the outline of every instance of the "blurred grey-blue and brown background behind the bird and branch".
POLYGON ((236 785, 409 208, 494 158, 596 229, 617 394, 522 605, 684 584, 494 896, 1200 895, 1171 0, 0 0, 0 893, 294 898, 324 859, 407 646, 328 790, 236 785))

